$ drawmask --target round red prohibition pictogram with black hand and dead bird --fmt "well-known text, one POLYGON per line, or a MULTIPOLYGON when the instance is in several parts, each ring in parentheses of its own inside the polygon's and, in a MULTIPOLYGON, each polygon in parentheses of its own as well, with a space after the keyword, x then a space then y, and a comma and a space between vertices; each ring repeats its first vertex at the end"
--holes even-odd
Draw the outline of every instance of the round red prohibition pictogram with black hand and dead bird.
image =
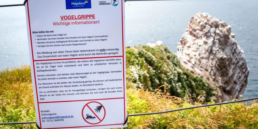
POLYGON ((92 101, 83 106, 81 115, 85 122, 89 124, 99 124, 104 120, 106 110, 101 103, 92 101))

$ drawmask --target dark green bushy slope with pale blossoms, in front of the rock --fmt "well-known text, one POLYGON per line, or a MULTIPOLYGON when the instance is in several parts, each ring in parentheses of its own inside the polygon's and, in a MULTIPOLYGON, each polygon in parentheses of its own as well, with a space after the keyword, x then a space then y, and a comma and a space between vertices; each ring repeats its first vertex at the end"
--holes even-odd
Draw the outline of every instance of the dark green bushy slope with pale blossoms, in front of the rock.
MULTIPOLYGON (((161 85, 173 96, 183 99, 215 100, 215 87, 203 77, 183 69, 177 56, 166 46, 126 48, 127 87, 154 91, 161 85)), ((163 88, 163 87, 162 87, 163 88)))

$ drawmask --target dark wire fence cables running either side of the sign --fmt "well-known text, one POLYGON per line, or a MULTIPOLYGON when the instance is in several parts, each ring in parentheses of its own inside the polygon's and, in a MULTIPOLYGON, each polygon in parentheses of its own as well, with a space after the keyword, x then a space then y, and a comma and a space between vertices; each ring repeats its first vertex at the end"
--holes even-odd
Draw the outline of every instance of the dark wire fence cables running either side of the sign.
MULTIPOLYGON (((23 4, 13 4, 13 5, 0 5, 0 7, 13 7, 13 6, 24 6, 28 0, 24 1, 23 4)), ((164 0, 124 0, 126 1, 164 1, 164 0)), ((169 113, 169 112, 176 112, 176 111, 182 111, 182 110, 188 110, 188 109, 194 109, 194 108, 200 108, 200 107, 209 107, 209 106, 215 106, 215 105, 224 105, 229 103, 239 103, 244 101, 251 101, 256 100, 258 97, 251 98, 251 99, 243 99, 243 100, 236 100, 236 101, 230 101, 230 102, 222 102, 222 103, 213 103, 213 104, 206 104, 206 105, 199 105, 199 106, 193 106, 193 107, 186 107, 186 108, 179 108, 175 110, 168 110, 168 111, 162 111, 162 112, 151 112, 151 113, 142 113, 142 114, 129 114, 127 115, 126 121, 124 124, 126 124, 128 117, 130 116, 143 116, 143 115, 153 115, 153 114, 163 114, 163 113, 169 113)), ((9 122, 9 123, 0 123, 0 125, 13 125, 13 124, 36 124, 37 122, 9 122)))

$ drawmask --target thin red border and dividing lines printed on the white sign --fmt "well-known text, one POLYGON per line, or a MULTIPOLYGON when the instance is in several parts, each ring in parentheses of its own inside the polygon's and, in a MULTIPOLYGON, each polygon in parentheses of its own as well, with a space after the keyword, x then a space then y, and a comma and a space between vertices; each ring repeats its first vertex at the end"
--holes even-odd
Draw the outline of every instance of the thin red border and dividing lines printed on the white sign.
MULTIPOLYGON (((49 61, 49 60, 72 60, 72 59, 89 59, 89 58, 111 58, 111 57, 123 57, 123 83, 124 83, 124 121, 126 120, 126 112, 125 112, 125 82, 124 82, 124 23, 123 23, 123 2, 121 4, 122 10, 122 48, 123 48, 123 55, 122 56, 105 56, 105 57, 89 57, 89 58, 69 58, 69 59, 49 59, 49 60, 34 60, 33 56, 33 48, 32 48, 32 37, 31 37, 31 27, 30 27, 30 13, 29 13, 29 2, 27 1, 27 9, 28 9, 28 22, 29 22, 29 29, 30 29, 30 42, 31 42, 31 51, 32 51, 32 62, 33 62, 33 72, 34 72, 34 79, 35 79, 35 87, 36 87, 36 95, 37 95, 37 105, 38 105, 38 115, 40 120, 40 128, 41 127, 41 119, 40 119, 40 108, 39 103, 48 103, 48 102, 38 102, 38 91, 37 91, 37 83, 36 83, 36 75, 35 75, 35 61, 49 61)), ((110 99, 122 99, 122 98, 110 98, 110 99)), ((102 100, 102 99, 94 99, 94 100, 102 100)), ((74 100, 74 101, 87 101, 87 100, 74 100)), ((69 102, 69 101, 56 101, 56 102, 69 102)), ((54 103, 54 102, 49 102, 54 103)), ((94 125, 94 126, 111 126, 111 125, 122 125, 121 124, 107 124, 107 125, 94 125)), ((51 129, 60 129, 60 128, 82 128, 82 127, 94 127, 94 126, 77 126, 77 127, 59 127, 59 128, 51 128, 51 129)), ((43 129, 43 128, 42 128, 43 129)), ((50 129, 50 128, 44 128, 50 129)))

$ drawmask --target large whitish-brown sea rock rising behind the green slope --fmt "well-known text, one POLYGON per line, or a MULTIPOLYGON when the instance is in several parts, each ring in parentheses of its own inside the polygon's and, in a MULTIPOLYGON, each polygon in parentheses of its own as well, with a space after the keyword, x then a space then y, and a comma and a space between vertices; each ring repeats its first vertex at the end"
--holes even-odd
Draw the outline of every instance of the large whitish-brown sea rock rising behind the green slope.
POLYGON ((184 67, 217 86, 217 102, 243 95, 249 68, 226 22, 208 13, 194 15, 177 45, 177 56, 184 67))

